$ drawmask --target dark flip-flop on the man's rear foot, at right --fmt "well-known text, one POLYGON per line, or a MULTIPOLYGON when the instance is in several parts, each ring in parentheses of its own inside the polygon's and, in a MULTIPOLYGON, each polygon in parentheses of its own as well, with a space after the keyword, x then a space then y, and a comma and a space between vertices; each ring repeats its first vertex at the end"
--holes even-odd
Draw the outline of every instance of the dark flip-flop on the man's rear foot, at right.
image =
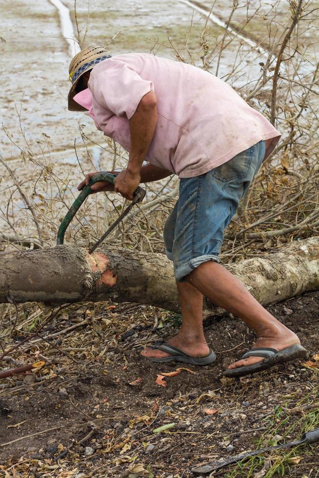
POLYGON ((298 343, 279 351, 269 347, 256 347, 255 349, 248 350, 248 352, 246 352, 239 360, 247 359, 248 357, 264 357, 264 360, 246 367, 225 370, 223 375, 225 377, 243 377, 244 375, 254 374, 255 372, 260 372, 261 370, 274 367, 280 363, 299 359, 304 357, 306 353, 306 349, 298 343))

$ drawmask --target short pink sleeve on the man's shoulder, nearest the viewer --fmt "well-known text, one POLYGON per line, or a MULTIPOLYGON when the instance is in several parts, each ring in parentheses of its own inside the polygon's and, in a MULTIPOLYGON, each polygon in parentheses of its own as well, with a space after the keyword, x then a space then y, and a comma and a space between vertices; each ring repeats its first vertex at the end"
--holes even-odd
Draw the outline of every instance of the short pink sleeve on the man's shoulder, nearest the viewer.
POLYGON ((154 91, 152 81, 143 80, 122 61, 108 59, 102 63, 93 68, 88 84, 94 99, 119 118, 131 119, 143 96, 154 91))

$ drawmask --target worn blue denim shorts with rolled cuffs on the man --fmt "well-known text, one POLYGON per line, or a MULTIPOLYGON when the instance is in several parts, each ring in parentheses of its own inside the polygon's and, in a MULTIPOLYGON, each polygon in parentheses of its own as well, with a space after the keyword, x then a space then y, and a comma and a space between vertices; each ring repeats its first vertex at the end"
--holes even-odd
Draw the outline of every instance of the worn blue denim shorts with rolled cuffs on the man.
POLYGON ((207 260, 220 262, 224 230, 259 170, 265 149, 265 141, 259 141, 208 173, 180 179, 179 199, 164 226, 166 255, 178 282, 207 260))

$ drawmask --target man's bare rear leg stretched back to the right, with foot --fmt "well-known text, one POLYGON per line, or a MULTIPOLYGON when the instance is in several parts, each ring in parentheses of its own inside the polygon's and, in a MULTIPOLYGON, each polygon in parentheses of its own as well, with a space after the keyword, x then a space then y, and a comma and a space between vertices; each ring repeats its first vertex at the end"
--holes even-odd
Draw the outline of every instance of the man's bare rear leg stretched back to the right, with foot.
MULTIPOLYGON (((186 279, 205 297, 250 325, 258 336, 254 347, 282 350, 300 343, 296 334, 267 312, 243 284, 217 262, 200 264, 186 279)), ((260 357, 249 357, 232 363, 228 368, 251 365, 260 360, 260 357)))

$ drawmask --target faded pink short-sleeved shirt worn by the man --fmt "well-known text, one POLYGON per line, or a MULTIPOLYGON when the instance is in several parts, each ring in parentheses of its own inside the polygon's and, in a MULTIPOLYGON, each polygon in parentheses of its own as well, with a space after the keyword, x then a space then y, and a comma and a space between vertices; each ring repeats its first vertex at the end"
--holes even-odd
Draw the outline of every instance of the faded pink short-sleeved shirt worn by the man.
POLYGON ((231 86, 195 66, 146 53, 103 60, 91 71, 88 90, 74 100, 96 127, 130 149, 129 119, 154 91, 158 122, 146 160, 191 178, 225 163, 260 140, 273 151, 280 133, 231 86))

